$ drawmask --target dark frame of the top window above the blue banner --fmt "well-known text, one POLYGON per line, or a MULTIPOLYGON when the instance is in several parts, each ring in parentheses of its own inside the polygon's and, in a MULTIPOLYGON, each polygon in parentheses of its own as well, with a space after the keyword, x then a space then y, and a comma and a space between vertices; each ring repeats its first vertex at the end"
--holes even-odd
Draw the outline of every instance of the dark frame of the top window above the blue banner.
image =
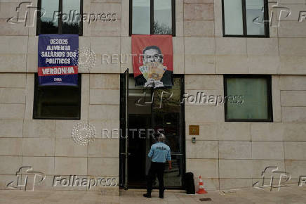
MULTIPOLYGON (((43 0, 37 0, 37 17, 36 17, 36 35, 39 34, 48 34, 48 33, 41 33, 41 1, 43 0)), ((62 12, 62 0, 58 0, 58 11, 62 12)), ((83 0, 80 0, 80 15, 83 16, 83 0)), ((60 18, 58 19, 58 33, 55 34, 62 34, 62 15, 60 15, 60 18)), ((67 33, 66 33, 67 34, 67 33)), ((79 25, 79 36, 83 36, 83 20, 80 20, 79 25)))

